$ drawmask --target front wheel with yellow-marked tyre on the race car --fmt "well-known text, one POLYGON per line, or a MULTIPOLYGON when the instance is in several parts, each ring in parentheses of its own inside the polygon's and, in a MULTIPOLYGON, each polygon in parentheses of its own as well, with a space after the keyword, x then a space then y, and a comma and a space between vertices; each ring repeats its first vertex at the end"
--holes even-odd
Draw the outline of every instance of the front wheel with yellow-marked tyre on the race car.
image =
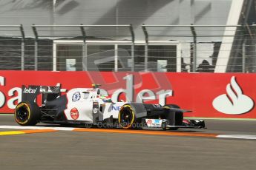
POLYGON ((125 104, 118 114, 118 123, 122 129, 131 129, 135 124, 135 112, 131 105, 125 104))

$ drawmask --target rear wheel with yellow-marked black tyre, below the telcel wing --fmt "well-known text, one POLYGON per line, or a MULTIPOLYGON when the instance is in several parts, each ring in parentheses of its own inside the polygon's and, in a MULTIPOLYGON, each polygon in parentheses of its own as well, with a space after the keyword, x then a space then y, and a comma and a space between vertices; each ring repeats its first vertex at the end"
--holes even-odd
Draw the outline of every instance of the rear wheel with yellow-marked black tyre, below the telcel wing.
POLYGON ((36 103, 22 101, 16 106, 14 118, 19 125, 34 126, 41 118, 41 111, 36 103))

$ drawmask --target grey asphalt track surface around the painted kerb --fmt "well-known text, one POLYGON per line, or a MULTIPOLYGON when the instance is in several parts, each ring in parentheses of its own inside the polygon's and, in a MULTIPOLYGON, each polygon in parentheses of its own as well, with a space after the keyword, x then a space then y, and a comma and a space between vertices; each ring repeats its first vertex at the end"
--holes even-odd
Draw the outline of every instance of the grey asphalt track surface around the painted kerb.
MULTIPOLYGON (((256 135, 256 121, 206 120, 205 133, 256 135)), ((0 125, 16 125, 0 115, 0 125)), ((0 129, 10 131, 10 129, 0 129)), ((188 130, 191 131, 191 130, 188 130)), ((50 132, 0 136, 0 169, 255 169, 256 140, 50 132)))

